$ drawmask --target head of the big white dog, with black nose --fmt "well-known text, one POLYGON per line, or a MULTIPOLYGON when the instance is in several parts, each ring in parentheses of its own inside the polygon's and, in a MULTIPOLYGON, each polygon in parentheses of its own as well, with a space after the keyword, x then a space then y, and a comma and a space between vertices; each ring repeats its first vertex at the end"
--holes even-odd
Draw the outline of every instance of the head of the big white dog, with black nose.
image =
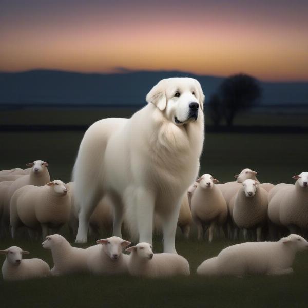
POLYGON ((199 112, 203 111, 204 94, 196 79, 167 78, 150 90, 146 101, 164 112, 174 124, 184 125, 198 119, 199 112))

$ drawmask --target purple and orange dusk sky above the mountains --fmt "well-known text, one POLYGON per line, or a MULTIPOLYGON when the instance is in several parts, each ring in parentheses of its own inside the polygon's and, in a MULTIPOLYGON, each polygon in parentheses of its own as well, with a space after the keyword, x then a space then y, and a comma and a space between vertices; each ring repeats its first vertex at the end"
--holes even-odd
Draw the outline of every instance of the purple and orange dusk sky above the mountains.
POLYGON ((0 71, 308 81, 308 1, 0 0, 0 71))

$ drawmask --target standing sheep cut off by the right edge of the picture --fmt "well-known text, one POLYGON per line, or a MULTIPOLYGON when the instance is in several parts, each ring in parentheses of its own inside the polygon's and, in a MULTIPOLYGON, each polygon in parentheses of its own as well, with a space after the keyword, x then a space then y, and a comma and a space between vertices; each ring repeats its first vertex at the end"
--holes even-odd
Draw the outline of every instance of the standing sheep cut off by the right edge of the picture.
POLYGON ((308 230, 308 172, 294 176, 295 185, 282 185, 268 205, 268 217, 290 233, 308 230))

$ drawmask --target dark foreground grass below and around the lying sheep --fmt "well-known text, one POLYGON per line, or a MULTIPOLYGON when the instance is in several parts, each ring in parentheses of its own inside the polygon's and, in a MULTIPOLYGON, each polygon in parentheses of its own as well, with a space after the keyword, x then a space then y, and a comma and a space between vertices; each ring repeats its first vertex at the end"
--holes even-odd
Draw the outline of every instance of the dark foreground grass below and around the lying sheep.
MULTIPOLYGON (((50 251, 40 243, 6 240, 20 245, 52 265, 50 251)), ((178 252, 191 267, 191 276, 171 279, 140 279, 129 276, 73 275, 24 282, 0 282, 3 307, 306 307, 308 253, 298 254, 293 275, 246 278, 204 278, 197 266, 234 242, 213 244, 177 239, 178 252)), ((161 243, 154 242, 161 250, 161 243)), ((30 256, 30 255, 29 255, 30 256)), ((0 261, 2 262, 2 256, 0 261)))

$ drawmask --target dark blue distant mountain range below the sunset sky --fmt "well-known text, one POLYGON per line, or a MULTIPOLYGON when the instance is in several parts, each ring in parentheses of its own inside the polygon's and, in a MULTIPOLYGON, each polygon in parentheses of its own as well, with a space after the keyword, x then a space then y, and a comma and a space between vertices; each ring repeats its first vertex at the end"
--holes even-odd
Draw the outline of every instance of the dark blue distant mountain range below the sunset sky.
MULTIPOLYGON (((196 78, 206 98, 223 78, 178 71, 137 71, 85 74, 52 70, 0 73, 0 105, 131 106, 144 105, 147 92, 159 80, 196 78)), ((307 105, 308 82, 260 82, 262 105, 307 105)))

